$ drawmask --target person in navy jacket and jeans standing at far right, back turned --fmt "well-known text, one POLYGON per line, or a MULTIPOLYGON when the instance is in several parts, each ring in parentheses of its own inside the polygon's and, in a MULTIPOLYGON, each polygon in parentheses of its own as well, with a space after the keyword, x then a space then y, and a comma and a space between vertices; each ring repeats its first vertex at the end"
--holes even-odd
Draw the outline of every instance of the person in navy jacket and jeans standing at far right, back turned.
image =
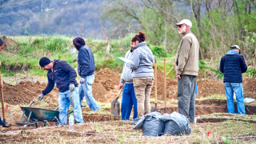
POLYGON ((242 90, 242 73, 247 70, 246 62, 240 54, 240 47, 230 47, 226 55, 221 59, 220 70, 224 73, 227 110, 234 114, 234 94, 237 99, 238 114, 246 114, 242 90))

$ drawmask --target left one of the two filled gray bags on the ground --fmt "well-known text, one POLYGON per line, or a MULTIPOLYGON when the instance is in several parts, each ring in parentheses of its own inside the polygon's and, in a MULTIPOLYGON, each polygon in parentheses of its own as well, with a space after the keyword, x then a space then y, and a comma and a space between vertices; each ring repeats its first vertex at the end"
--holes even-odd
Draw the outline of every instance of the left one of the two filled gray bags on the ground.
POLYGON ((164 123, 160 120, 162 114, 153 112, 144 115, 134 126, 134 130, 142 129, 142 133, 146 136, 161 136, 164 130, 164 123))

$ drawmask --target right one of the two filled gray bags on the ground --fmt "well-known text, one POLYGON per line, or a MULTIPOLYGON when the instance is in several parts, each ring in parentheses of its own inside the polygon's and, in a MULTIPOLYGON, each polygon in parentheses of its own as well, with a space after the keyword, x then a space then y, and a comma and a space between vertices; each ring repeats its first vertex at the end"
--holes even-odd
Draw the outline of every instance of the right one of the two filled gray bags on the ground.
POLYGON ((165 124, 163 131, 165 135, 192 134, 190 122, 182 114, 174 111, 172 114, 163 114, 160 119, 165 124))

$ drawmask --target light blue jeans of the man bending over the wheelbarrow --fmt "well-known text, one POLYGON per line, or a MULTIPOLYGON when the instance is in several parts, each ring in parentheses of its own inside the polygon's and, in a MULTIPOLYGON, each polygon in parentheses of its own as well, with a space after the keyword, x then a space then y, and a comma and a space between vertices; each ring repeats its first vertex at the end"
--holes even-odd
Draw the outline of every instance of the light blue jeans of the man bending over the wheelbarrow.
POLYGON ((58 111, 59 111, 59 122, 60 125, 66 125, 67 111, 70 108, 70 103, 74 108, 74 118, 77 123, 83 123, 82 110, 78 98, 78 87, 71 93, 72 98, 70 98, 70 90, 58 93, 58 111))

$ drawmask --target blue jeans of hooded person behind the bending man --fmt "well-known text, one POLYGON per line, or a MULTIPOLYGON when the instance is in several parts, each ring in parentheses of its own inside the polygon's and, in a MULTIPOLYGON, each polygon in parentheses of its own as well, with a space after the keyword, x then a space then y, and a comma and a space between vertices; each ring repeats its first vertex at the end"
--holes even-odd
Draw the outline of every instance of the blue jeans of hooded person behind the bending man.
POLYGON ((89 75, 85 78, 84 84, 79 84, 78 92, 80 98, 80 105, 82 105, 82 98, 85 96, 84 90, 86 91, 86 102, 87 105, 90 107, 90 110, 101 110, 98 106, 97 102, 94 99, 92 85, 94 83, 94 74, 89 75))

